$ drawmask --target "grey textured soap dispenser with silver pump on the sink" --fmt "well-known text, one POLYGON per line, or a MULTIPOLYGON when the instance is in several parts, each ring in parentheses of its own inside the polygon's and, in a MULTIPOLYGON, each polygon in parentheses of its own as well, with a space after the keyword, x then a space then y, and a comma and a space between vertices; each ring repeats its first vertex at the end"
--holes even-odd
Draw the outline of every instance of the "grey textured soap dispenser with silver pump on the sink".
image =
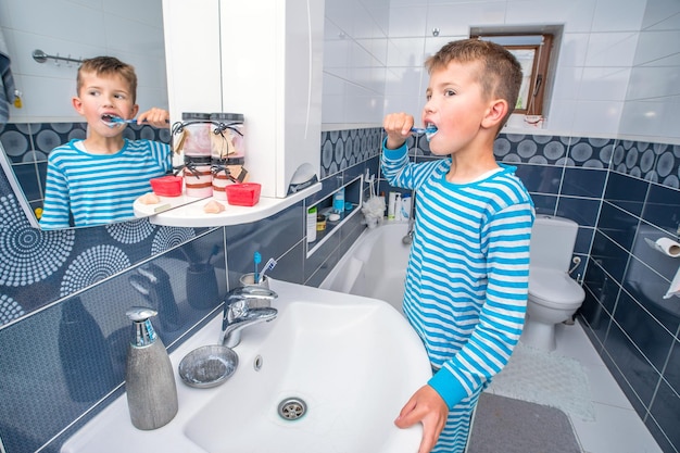
POLYGON ((134 306, 126 312, 133 320, 134 338, 127 351, 125 390, 133 425, 150 430, 168 424, 177 414, 175 374, 165 345, 151 325, 156 312, 134 306))

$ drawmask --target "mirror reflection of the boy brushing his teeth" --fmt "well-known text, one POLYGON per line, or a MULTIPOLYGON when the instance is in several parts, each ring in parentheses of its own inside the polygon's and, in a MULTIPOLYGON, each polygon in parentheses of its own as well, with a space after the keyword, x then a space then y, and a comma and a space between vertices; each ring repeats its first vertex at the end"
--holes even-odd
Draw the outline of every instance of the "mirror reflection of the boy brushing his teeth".
MULTIPOLYGON (((45 229, 102 225, 134 217, 133 203, 149 192, 149 179, 172 168, 168 144, 123 138, 133 118, 137 76, 133 66, 113 56, 85 60, 78 68, 74 109, 85 117, 85 140, 71 140, 48 156, 47 185, 40 226, 45 229), (73 224, 70 221, 73 217, 73 224)), ((169 115, 151 109, 137 124, 168 127, 169 115)))

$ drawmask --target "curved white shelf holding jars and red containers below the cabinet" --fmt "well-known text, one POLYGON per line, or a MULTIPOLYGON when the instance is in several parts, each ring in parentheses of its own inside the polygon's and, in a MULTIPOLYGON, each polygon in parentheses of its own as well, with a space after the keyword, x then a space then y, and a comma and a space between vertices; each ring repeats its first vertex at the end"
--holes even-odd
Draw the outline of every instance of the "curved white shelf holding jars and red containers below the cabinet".
MULTIPOLYGON (((224 200, 216 200, 224 204, 226 210, 218 214, 206 214, 203 206, 213 198, 197 199, 197 201, 179 207, 164 211, 159 214, 137 212, 140 217, 149 216, 149 222, 154 225, 176 227, 217 227, 248 224, 261 221, 292 206, 299 201, 322 190, 323 185, 317 183, 306 189, 300 190, 286 198, 260 197, 260 202, 254 206, 232 206, 224 200)), ((136 202, 137 203, 137 202, 136 202)), ((136 206, 137 207, 137 206, 136 206)))

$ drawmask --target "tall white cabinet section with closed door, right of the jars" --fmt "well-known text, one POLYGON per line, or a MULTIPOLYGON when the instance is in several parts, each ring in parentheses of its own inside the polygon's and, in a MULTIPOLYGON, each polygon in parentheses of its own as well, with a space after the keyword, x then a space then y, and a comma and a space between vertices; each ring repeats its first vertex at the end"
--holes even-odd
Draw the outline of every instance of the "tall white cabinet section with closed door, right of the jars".
POLYGON ((221 4, 223 109, 245 115, 263 196, 286 197, 298 167, 320 165, 324 0, 221 4))

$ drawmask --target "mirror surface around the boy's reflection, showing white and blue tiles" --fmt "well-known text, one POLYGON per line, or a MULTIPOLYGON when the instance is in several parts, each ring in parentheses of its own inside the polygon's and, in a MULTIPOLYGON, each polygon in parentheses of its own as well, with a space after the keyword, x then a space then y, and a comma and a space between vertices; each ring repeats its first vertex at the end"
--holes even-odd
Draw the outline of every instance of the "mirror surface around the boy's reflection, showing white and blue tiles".
MULTIPOLYGON (((85 119, 71 103, 79 60, 113 55, 131 64, 140 111, 168 108, 162 0, 86 3, 0 0, 0 52, 10 55, 21 92, 21 108, 11 106, 9 124, 0 124, 0 164, 35 227, 47 155, 56 146, 86 137, 85 119), (35 59, 36 50, 47 56, 35 59)), ((127 125, 124 136, 171 141, 169 129, 151 126, 127 125)))

